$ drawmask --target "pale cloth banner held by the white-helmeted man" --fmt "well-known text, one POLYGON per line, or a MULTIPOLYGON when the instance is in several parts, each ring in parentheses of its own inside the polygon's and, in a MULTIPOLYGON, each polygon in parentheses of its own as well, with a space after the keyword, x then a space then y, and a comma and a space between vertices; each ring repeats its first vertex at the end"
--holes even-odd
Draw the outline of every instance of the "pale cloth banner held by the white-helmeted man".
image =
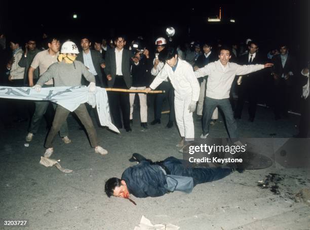
POLYGON ((62 86, 41 88, 37 93, 30 87, 7 87, 0 86, 0 98, 51 101, 70 112, 74 111, 82 103, 89 103, 93 108, 97 107, 98 117, 102 126, 108 126, 109 129, 120 132, 111 122, 109 104, 105 88, 97 87, 95 93, 90 93, 86 86, 62 86))

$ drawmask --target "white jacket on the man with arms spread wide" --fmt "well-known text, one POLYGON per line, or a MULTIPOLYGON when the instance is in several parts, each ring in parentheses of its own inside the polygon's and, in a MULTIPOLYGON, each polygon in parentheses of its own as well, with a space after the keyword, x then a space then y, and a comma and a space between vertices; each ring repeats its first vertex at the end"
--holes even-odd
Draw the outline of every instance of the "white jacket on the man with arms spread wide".
POLYGON ((229 98, 232 81, 236 75, 245 75, 264 68, 264 65, 238 65, 228 62, 225 67, 220 61, 211 62, 195 71, 197 77, 208 75, 206 97, 213 99, 229 98))

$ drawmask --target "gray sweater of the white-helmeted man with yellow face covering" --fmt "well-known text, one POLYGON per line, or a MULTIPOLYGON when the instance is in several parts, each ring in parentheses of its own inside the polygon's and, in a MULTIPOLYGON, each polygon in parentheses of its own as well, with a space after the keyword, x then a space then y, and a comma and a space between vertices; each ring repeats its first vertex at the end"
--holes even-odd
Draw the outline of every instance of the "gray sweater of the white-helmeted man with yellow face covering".
POLYGON ((36 82, 41 86, 54 78, 54 86, 80 86, 82 74, 89 82, 95 82, 95 77, 91 74, 86 66, 80 61, 74 61, 74 64, 57 62, 52 64, 49 69, 41 75, 36 82))

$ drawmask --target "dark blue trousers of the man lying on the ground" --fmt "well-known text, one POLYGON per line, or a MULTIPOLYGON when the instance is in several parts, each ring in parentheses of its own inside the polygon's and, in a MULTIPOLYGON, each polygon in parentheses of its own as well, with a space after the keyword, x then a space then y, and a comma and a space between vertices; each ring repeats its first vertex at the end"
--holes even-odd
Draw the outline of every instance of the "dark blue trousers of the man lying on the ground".
POLYGON ((232 172, 231 168, 185 168, 182 160, 175 157, 165 159, 164 165, 169 169, 171 175, 192 177, 194 186, 222 179, 232 172))

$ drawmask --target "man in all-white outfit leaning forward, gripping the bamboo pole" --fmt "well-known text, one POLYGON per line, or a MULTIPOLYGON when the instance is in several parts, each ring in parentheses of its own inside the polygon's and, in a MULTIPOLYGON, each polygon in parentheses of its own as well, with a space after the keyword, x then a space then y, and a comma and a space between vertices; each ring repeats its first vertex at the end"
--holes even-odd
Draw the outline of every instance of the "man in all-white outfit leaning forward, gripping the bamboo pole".
POLYGON ((146 91, 155 89, 169 77, 174 88, 175 118, 181 135, 177 147, 183 147, 185 141, 193 141, 195 137, 192 112, 196 109, 200 85, 191 65, 178 58, 175 48, 164 49, 159 59, 166 64, 146 91))

